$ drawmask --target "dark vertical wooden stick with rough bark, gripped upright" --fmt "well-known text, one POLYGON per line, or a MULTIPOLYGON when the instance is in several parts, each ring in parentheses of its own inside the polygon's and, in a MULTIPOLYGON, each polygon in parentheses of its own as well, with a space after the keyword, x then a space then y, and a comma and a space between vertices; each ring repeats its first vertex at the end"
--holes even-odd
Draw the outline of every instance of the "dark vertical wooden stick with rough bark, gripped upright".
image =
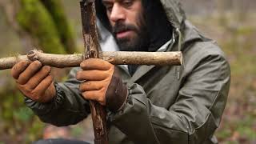
MULTIPOLYGON (((82 0, 80 2, 82 15, 82 33, 85 44, 86 58, 98 58, 98 33, 96 26, 96 11, 94 0, 82 0)), ((94 142, 95 144, 107 144, 108 138, 106 133, 106 110, 98 102, 90 102, 90 111, 94 125, 94 142)))

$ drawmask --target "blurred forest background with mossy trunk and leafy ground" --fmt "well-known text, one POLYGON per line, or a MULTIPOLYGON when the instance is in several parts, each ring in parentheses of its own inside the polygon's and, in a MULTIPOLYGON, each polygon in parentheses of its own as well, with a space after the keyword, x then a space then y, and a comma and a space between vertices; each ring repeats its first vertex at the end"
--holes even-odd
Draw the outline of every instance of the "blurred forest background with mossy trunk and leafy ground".
MULTIPOLYGON (((180 0, 187 18, 226 52, 232 71, 230 95, 217 136, 220 143, 256 143, 256 1, 180 0)), ((48 53, 82 51, 78 0, 0 0, 0 58, 34 48, 48 53)), ((69 69, 53 70, 62 81, 69 69)), ((0 71, 0 144, 30 143, 55 133, 23 104, 22 94, 0 71), (45 131, 45 133, 43 133, 45 131)), ((58 130, 65 138, 92 140, 90 119, 58 130), (88 122, 89 121, 89 122, 88 122), (86 133, 86 134, 85 134, 86 133)), ((54 134, 53 134, 54 135, 54 134)))

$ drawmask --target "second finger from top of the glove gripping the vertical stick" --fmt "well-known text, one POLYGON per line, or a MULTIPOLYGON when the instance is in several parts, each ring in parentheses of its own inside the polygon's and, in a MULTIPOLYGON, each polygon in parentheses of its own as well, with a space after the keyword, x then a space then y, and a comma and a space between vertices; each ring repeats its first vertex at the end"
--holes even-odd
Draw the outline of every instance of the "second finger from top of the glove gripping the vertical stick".
POLYGON ((106 70, 83 70, 78 71, 77 79, 79 81, 102 81, 109 77, 109 73, 106 70))

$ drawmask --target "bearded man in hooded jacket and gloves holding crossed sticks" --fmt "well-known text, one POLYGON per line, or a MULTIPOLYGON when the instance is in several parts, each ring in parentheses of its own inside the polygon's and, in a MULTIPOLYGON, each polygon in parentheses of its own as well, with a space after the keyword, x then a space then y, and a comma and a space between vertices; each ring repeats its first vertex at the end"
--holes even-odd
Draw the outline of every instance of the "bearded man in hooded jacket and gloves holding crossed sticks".
MULTIPOLYGON (((128 66, 128 72, 90 58, 57 83, 50 66, 19 62, 12 75, 27 106, 42 122, 67 126, 90 114, 88 100, 98 101, 108 111, 111 144, 217 143, 230 67, 216 43, 198 33, 174 0, 96 2, 101 31, 110 31, 120 50, 177 51, 181 45, 183 65, 128 66)), ((106 35, 102 50, 111 40, 106 35)))

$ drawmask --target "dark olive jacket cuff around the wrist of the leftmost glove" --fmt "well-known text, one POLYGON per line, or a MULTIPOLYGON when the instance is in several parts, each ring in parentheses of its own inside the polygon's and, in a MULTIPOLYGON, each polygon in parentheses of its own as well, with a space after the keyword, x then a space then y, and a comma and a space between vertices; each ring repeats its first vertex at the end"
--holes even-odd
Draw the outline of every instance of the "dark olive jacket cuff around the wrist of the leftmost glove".
POLYGON ((30 107, 37 115, 49 114, 52 110, 57 110, 64 102, 65 93, 61 90, 57 82, 54 82, 56 95, 50 102, 42 103, 35 102, 30 98, 25 97, 26 106, 30 107))

